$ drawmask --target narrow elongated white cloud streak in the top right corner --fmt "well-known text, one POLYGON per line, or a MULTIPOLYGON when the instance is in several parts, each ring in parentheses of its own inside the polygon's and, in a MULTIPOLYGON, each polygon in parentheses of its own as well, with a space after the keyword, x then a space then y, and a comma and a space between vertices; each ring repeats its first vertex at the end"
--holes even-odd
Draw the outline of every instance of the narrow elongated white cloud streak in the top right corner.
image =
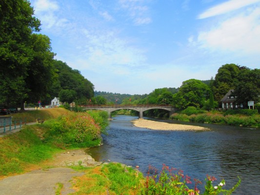
POLYGON ((260 0, 229 0, 206 10, 205 12, 200 14, 198 18, 205 19, 220 14, 225 14, 257 2, 260 2, 260 0))

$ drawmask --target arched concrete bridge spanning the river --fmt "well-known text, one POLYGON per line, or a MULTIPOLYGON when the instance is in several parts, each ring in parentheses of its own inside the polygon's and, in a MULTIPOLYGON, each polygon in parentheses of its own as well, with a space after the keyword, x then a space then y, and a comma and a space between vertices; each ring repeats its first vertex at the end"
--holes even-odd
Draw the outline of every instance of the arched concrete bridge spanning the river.
POLYGON ((103 110, 108 112, 109 118, 111 118, 111 112, 121 109, 135 110, 139 112, 139 118, 142 118, 143 112, 151 109, 162 109, 169 111, 170 115, 175 113, 176 109, 172 106, 87 106, 82 107, 83 110, 103 110))

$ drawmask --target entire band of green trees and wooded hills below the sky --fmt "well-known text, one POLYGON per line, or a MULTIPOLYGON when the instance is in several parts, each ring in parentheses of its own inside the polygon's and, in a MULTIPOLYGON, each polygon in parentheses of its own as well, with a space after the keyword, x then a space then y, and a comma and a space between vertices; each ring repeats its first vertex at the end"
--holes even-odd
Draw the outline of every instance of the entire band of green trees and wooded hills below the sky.
POLYGON ((155 89, 150 94, 129 95, 94 92, 94 84, 79 70, 54 59, 51 40, 40 34, 40 20, 27 0, 0 2, 0 104, 20 107, 24 103, 48 105, 61 102, 77 105, 172 105, 203 110, 221 107, 220 100, 231 89, 236 104, 260 102, 260 69, 237 64, 221 65, 215 78, 191 78, 178 88, 155 89))

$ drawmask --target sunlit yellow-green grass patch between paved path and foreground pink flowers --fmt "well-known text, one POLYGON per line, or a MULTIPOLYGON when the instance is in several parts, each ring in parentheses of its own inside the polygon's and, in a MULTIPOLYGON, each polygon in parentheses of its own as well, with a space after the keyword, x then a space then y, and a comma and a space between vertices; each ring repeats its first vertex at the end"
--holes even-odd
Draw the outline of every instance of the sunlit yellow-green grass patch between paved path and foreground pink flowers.
MULTIPOLYGON (((79 170, 80 168, 74 167, 79 170)), ((73 195, 137 195, 140 194, 142 174, 120 163, 95 168, 82 168, 85 175, 75 179, 73 195)), ((81 170, 82 170, 81 169, 81 170)))

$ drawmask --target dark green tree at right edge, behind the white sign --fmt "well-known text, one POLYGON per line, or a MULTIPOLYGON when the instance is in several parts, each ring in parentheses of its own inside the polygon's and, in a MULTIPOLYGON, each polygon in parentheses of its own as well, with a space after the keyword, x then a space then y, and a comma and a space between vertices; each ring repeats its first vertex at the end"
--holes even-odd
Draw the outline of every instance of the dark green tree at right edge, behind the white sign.
POLYGON ((260 69, 242 68, 234 90, 237 104, 247 106, 248 101, 260 102, 260 69))

